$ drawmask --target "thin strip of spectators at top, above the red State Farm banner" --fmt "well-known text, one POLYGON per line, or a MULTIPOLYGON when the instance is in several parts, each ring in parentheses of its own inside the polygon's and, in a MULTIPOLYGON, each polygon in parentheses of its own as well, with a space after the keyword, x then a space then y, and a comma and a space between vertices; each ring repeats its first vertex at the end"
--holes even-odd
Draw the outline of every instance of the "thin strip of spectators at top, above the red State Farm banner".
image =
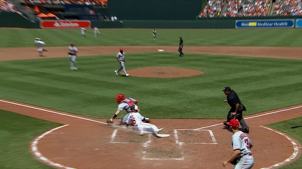
POLYGON ((91 5, 106 7, 108 0, 21 0, 24 4, 43 5, 91 5))

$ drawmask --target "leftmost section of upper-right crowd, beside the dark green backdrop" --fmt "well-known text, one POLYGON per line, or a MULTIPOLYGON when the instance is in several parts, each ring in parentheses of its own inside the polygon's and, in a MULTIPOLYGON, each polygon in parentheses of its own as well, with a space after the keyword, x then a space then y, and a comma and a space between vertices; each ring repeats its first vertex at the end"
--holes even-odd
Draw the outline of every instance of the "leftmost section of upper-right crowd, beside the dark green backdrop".
POLYGON ((199 14, 199 17, 219 17, 224 5, 224 0, 209 0, 199 14))

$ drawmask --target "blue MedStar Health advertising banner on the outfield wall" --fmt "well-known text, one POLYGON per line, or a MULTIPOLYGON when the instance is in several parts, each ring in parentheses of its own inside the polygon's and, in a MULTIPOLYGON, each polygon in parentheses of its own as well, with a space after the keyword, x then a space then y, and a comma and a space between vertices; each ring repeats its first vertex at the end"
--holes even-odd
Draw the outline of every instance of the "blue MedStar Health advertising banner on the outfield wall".
POLYGON ((294 19, 236 20, 236 28, 293 28, 294 19))

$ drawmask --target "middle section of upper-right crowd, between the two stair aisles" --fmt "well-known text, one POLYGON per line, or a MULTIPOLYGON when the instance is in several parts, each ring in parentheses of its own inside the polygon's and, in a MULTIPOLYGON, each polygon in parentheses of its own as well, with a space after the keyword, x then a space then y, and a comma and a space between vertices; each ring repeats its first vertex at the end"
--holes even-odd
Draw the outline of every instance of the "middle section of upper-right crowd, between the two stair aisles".
POLYGON ((262 17, 267 16, 269 0, 227 0, 226 17, 262 17))

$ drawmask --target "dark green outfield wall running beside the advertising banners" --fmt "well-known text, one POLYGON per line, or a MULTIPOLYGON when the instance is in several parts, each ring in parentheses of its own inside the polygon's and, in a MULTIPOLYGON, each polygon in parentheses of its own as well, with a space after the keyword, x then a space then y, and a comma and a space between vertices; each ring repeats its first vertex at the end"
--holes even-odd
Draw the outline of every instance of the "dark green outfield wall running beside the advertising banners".
MULTIPOLYGON (((236 28, 236 20, 249 22, 253 20, 269 21, 271 19, 302 19, 302 16, 287 17, 240 17, 240 18, 199 18, 198 20, 121 20, 99 21, 91 20, 91 27, 98 28, 193 28, 193 29, 223 29, 236 28)), ((67 21, 68 22, 68 21, 67 21)), ((298 23, 300 24, 301 21, 298 23)), ((0 27, 39 28, 40 21, 30 21, 16 13, 1 12, 0 27)), ((251 27, 252 28, 252 27, 251 27)))

